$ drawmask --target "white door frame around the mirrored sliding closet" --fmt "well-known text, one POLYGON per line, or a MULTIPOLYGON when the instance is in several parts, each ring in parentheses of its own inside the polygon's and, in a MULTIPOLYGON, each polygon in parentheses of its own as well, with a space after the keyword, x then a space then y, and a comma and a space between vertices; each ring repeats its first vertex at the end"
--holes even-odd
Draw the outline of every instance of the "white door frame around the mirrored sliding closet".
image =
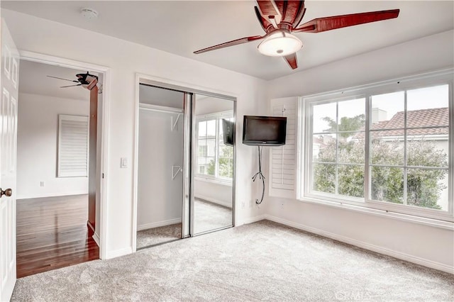
MULTIPOLYGON (((140 83, 148 84, 152 86, 157 86, 160 88, 167 88, 177 91, 186 92, 188 94, 204 94, 209 96, 219 97, 221 99, 230 99, 234 102, 234 114, 236 116, 236 101, 238 100, 238 94, 233 93, 231 91, 221 91, 218 89, 211 89, 205 86, 199 86, 196 84, 191 84, 187 82, 179 82, 172 79, 165 79, 162 77, 155 77, 149 74, 142 74, 136 73, 135 74, 135 102, 134 102, 134 147, 133 147, 133 220, 131 225, 131 237, 132 237, 132 250, 136 252, 136 245, 137 245, 137 203, 138 203, 138 142, 139 142, 139 87, 140 83)), ((191 113, 192 114, 192 113, 191 113)), ((238 130, 238 123, 236 123, 236 130, 238 130)), ((236 133, 236 131, 235 131, 236 133)), ((190 133, 192 135, 192 133, 190 133)), ((238 136, 238 135, 237 135, 238 136)), ((233 177, 235 179, 233 183, 233 205, 232 205, 232 225, 233 227, 236 226, 237 215, 236 213, 236 186, 237 186, 237 177, 236 177, 236 154, 237 150, 233 154, 233 177)), ((191 212, 191 211, 190 211, 191 212)), ((184 216, 184 211, 182 212, 184 216)), ((184 225, 183 225, 184 228, 184 225)), ((190 231, 190 235, 193 236, 192 231, 190 231)))

